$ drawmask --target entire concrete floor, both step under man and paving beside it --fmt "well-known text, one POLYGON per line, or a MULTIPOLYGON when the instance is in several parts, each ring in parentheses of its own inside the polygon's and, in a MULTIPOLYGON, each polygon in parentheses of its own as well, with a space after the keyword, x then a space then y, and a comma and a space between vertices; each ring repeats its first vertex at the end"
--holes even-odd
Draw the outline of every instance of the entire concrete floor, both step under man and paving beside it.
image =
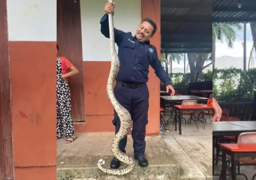
MULTIPOLYGON (((199 122, 199 130, 195 122, 185 125, 182 120, 182 135, 174 131, 173 120, 169 120, 167 128, 170 131, 162 129, 160 136, 146 137, 145 155, 150 165, 147 168, 135 166, 133 172, 124 177, 106 176, 97 168, 97 161, 101 158, 109 166, 114 133, 77 134, 78 139, 70 145, 64 144, 65 139, 58 139, 58 180, 217 180, 217 176, 212 177, 212 120, 207 116, 206 119, 206 128, 203 129, 203 123, 199 122)), ((133 155, 130 135, 126 150, 133 155)), ((217 171, 219 169, 220 165, 217 171)), ((255 169, 253 166, 243 167, 241 172, 250 180, 255 169)), ((237 180, 245 178, 240 176, 237 180)))

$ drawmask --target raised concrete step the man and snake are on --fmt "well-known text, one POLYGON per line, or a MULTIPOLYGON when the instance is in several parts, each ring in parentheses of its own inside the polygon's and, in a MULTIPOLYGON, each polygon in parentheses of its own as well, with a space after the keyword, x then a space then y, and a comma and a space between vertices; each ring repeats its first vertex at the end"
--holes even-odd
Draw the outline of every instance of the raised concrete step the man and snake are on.
MULTIPOLYGON (((146 137, 145 155, 149 166, 135 165, 133 171, 122 177, 109 176, 97 167, 97 161, 104 159, 109 166, 112 153, 111 141, 114 133, 77 134, 78 139, 70 145, 65 139, 57 140, 57 179, 58 180, 178 180, 182 169, 173 153, 161 136, 146 137)), ((128 154, 133 156, 132 138, 128 135, 126 146, 128 154)))

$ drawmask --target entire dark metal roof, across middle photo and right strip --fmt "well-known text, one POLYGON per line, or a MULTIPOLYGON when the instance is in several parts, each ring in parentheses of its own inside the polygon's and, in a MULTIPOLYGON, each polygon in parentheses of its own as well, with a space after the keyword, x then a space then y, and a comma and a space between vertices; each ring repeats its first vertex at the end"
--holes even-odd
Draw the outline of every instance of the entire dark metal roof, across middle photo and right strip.
POLYGON ((256 0, 161 0, 162 50, 211 52, 212 22, 256 22, 256 0))

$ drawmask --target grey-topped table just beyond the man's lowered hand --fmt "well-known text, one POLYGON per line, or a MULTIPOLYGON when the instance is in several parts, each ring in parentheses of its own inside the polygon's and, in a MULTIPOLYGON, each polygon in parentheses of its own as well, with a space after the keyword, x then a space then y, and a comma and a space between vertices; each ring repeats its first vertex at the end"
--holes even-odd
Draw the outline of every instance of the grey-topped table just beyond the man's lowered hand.
MULTIPOLYGON (((160 97, 170 103, 182 102, 182 101, 186 101, 186 100, 208 101, 208 99, 209 99, 209 98, 203 98, 203 97, 195 96, 195 95, 162 95, 160 97)), ((173 119, 172 111, 170 112, 170 118, 167 120, 167 124, 170 119, 173 119)))

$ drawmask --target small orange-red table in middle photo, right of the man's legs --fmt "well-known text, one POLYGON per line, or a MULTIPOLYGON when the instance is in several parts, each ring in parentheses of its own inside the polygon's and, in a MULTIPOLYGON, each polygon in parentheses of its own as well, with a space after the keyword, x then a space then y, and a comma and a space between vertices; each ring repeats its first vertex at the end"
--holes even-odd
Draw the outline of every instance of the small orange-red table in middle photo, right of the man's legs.
MULTIPOLYGON (((212 105, 205 105, 205 104, 197 104, 197 105, 174 105, 175 109, 175 131, 177 131, 177 111, 179 112, 179 134, 181 135, 181 112, 182 111, 204 111, 204 110, 210 110, 212 109, 212 105)), ((195 123, 197 124, 198 119, 195 120, 195 123)), ((203 121, 203 127, 204 127, 204 121, 203 121)), ((199 128, 198 128, 199 130, 199 128)))

